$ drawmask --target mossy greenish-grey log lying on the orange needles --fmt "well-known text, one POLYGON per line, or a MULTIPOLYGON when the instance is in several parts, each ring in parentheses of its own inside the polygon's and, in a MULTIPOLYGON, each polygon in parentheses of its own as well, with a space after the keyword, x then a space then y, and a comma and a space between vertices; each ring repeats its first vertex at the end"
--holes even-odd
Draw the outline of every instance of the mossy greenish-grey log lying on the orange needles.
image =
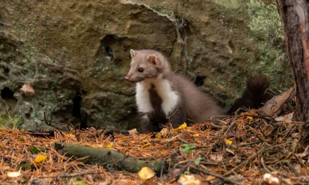
POLYGON ((74 145, 63 142, 55 142, 55 149, 58 152, 64 153, 66 156, 75 158, 83 158, 82 161, 90 164, 103 165, 104 167, 116 167, 119 171, 128 171, 137 173, 142 167, 151 168, 157 175, 160 174, 162 168, 166 171, 164 160, 144 161, 133 157, 129 157, 118 150, 107 148, 92 148, 89 146, 74 145))

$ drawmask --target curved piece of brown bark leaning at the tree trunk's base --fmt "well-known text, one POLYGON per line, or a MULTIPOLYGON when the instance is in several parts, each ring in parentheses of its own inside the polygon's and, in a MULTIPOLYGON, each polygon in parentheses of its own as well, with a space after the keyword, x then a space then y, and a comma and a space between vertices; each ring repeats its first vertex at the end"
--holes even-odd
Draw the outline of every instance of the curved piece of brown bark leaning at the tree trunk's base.
POLYGON ((281 93, 267 101, 263 108, 263 112, 268 116, 277 116, 284 103, 291 100, 296 95, 294 86, 290 87, 286 92, 281 93))

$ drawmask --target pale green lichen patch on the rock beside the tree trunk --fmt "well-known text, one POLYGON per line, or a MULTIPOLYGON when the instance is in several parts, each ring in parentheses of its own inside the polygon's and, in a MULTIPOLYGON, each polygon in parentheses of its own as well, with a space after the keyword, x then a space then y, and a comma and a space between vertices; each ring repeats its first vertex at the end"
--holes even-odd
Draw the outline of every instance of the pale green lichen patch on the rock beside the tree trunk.
POLYGON ((249 65, 255 74, 266 74, 272 81, 272 88, 286 89, 291 83, 291 70, 287 59, 281 20, 274 4, 265 5, 258 0, 248 2, 249 16, 247 35, 256 43, 258 54, 249 65))

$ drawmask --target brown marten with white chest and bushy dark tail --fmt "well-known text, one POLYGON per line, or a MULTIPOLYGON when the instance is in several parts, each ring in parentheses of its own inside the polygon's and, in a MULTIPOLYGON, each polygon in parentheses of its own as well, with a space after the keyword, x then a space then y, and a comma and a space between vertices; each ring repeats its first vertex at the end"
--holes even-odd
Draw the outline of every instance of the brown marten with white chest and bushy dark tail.
POLYGON ((205 123, 213 116, 227 115, 239 107, 258 108, 265 103, 269 81, 258 76, 247 81, 243 96, 229 110, 223 109, 192 82, 171 70, 167 58, 155 50, 130 50, 131 63, 125 80, 136 83, 136 103, 142 133, 159 131, 159 122, 173 128, 187 122, 205 123))

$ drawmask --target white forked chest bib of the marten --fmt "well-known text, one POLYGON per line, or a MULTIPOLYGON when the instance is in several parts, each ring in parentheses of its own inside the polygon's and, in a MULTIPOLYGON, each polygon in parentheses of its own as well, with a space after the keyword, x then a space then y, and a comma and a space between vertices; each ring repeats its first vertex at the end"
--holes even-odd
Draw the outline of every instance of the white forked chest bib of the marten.
POLYGON ((147 79, 136 84, 136 103, 138 111, 142 113, 152 113, 154 111, 150 101, 150 88, 152 85, 162 99, 161 108, 166 116, 171 115, 179 106, 180 95, 171 87, 170 81, 166 79, 147 79))

